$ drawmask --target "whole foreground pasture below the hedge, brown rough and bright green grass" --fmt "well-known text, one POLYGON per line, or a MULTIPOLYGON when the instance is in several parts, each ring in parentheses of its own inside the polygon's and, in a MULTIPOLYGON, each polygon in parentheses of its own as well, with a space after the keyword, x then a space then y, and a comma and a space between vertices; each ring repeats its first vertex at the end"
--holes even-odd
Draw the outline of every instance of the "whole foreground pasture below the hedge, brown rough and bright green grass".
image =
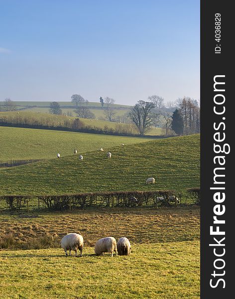
POLYGON ((2 299, 200 298, 198 207, 1 212, 0 225, 0 240, 12 233, 12 246, 29 248, 0 251, 2 299), (84 236, 82 258, 65 257, 61 248, 33 249, 43 235, 59 241, 67 232, 84 236), (126 236, 131 255, 95 256, 94 243, 108 235, 126 236))

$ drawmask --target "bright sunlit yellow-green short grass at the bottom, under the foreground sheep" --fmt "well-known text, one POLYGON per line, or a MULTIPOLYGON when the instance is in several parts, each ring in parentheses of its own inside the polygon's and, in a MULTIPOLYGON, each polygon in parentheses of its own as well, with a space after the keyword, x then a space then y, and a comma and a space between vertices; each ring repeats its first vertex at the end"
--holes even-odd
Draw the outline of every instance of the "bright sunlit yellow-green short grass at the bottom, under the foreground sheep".
POLYGON ((129 257, 0 252, 2 299, 200 298, 199 241, 135 245, 129 257))

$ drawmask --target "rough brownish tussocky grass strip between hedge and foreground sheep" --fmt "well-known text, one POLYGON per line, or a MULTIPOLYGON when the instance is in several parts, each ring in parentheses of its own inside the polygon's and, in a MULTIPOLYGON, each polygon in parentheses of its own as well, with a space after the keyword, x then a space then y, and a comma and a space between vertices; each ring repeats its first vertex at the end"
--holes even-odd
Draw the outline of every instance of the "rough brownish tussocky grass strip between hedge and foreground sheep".
MULTIPOLYGON (((194 241, 200 238, 200 209, 182 208, 92 208, 71 213, 30 212, 0 214, 0 240, 13 234, 13 245, 27 248, 35 238, 53 237, 58 244, 69 232, 80 232, 86 246, 102 236, 126 236, 135 244, 194 241)), ((11 238, 12 240, 12 238, 11 238)), ((53 245, 53 242, 51 242, 53 245)), ((47 248, 47 247, 46 247, 47 248)))

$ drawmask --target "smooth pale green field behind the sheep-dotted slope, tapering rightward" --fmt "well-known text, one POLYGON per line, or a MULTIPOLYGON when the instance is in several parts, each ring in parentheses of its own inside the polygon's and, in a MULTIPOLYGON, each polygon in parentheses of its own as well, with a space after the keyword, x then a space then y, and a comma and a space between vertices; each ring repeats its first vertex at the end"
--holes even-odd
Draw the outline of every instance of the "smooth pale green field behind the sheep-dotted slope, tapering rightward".
POLYGON ((75 132, 0 127, 0 162, 20 159, 49 159, 92 149, 111 148, 124 143, 134 144, 150 139, 119 137, 75 132))

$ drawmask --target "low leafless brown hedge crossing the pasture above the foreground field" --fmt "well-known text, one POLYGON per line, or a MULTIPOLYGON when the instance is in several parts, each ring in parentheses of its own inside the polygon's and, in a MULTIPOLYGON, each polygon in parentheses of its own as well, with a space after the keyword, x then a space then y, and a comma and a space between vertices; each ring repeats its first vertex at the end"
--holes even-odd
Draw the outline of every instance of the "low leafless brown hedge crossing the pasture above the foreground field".
MULTIPOLYGON (((200 188, 188 189, 195 204, 200 204, 200 188)), ((0 196, 1 206, 9 210, 29 209, 30 202, 37 202, 38 209, 73 210, 92 206, 176 206, 181 194, 175 190, 96 192, 63 195, 5 195, 0 196)))

